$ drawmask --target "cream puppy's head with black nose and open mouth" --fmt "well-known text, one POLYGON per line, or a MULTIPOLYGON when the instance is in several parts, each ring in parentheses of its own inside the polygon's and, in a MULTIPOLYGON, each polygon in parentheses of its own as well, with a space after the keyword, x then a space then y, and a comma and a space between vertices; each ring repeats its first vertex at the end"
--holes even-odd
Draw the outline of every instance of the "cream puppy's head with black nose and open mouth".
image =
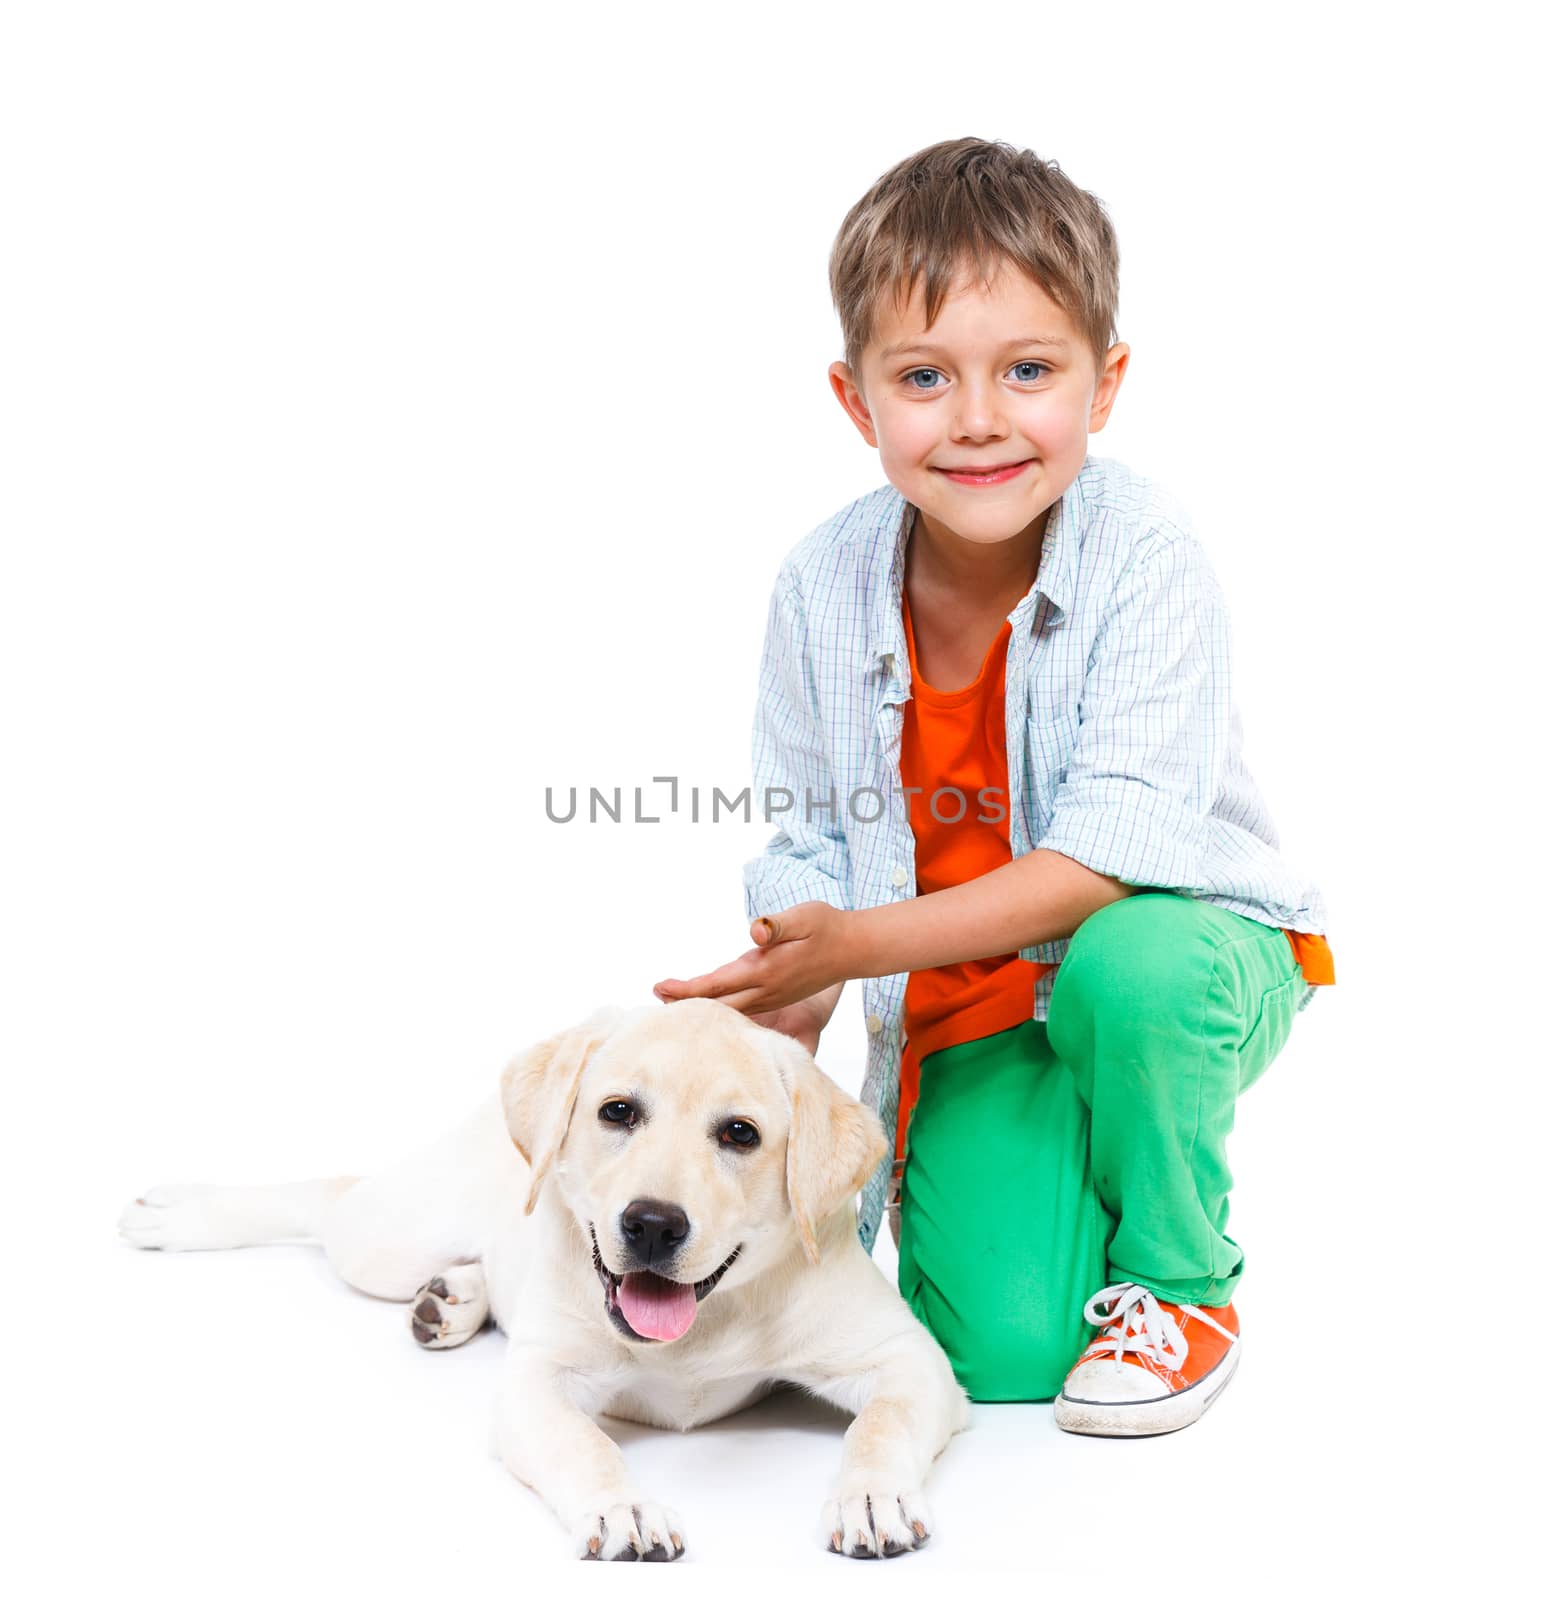
POLYGON ((608 1006, 504 1069, 504 1117, 586 1230, 611 1326, 678 1339, 726 1272, 802 1248, 888 1144, 797 1040, 717 1000, 608 1006))

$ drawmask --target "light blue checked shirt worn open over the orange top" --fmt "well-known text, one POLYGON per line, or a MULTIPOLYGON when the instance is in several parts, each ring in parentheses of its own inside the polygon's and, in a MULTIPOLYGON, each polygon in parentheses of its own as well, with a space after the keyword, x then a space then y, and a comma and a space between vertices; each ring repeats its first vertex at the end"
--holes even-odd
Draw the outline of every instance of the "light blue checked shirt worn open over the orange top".
MULTIPOLYGON (((901 782, 910 698, 901 584, 914 518, 899 490, 874 490, 800 539, 778 573, 752 795, 755 813, 779 827, 746 864, 747 920, 802 901, 856 909, 917 893, 901 782)), ((1326 933, 1318 890, 1278 854, 1243 765, 1227 610, 1165 490, 1090 456, 1051 507, 1040 571, 1008 621, 1014 858, 1054 850, 1123 883, 1326 933)), ((1019 955, 1059 963, 1067 942, 1019 955)), ((890 1160, 859 1200, 869 1251, 894 1162, 906 979, 891 973, 862 986, 862 1099, 890 1134, 890 1160)), ((1035 986, 1038 1021, 1054 982, 1053 970, 1035 986)), ((1302 1005, 1312 997, 1309 989, 1302 1005)))

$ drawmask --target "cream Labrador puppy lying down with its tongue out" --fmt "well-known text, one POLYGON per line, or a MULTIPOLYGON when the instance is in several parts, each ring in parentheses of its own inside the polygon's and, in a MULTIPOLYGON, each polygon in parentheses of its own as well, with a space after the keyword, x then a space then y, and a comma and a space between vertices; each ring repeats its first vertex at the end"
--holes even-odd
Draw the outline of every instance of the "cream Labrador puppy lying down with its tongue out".
POLYGON ((152 1250, 320 1238, 355 1288, 411 1299, 430 1349, 491 1315, 498 1453, 582 1557, 685 1549, 595 1414, 688 1429, 778 1381, 856 1413, 821 1541, 899 1555, 933 1531, 922 1483, 968 1402, 859 1243, 850 1202, 885 1152, 795 1040, 717 1000, 610 1006, 378 1176, 152 1189, 118 1227, 152 1250))

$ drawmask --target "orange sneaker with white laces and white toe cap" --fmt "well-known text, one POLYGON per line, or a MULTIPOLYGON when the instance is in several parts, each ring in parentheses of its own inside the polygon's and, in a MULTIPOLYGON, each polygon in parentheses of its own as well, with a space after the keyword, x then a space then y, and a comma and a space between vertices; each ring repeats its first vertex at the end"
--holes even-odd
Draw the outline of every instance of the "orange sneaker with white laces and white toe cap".
POLYGON ((1056 1397, 1069 1434, 1171 1434, 1187 1427, 1238 1368, 1232 1306, 1176 1306, 1141 1283, 1114 1283, 1083 1307, 1094 1339, 1056 1397))

